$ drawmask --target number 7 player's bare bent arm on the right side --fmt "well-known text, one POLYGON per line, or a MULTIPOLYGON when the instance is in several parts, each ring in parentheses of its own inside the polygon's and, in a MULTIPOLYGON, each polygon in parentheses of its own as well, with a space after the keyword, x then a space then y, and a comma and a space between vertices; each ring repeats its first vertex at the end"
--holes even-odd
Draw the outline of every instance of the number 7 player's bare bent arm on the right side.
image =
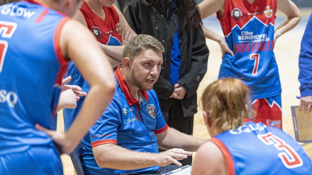
POLYGON ((285 21, 275 29, 274 41, 290 29, 294 28, 301 19, 298 7, 291 0, 277 0, 277 9, 286 15, 285 21))

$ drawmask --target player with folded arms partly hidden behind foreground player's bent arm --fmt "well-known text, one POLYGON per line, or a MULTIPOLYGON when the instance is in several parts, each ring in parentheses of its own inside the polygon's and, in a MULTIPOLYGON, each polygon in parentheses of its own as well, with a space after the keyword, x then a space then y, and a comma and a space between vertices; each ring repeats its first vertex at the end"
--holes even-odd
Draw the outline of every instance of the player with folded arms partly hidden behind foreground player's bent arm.
MULTIPOLYGON (((74 19, 80 21, 84 26, 88 27, 99 41, 99 45, 110 56, 110 62, 113 67, 121 64, 122 50, 135 32, 130 28, 123 14, 116 8, 113 3, 116 0, 85 0, 80 10, 77 10, 74 19), (125 32, 123 32, 125 31, 125 32)), ((69 63, 66 76, 73 77, 68 84, 74 84, 82 87, 83 92, 89 91, 89 85, 77 71, 74 64, 69 63)), ((75 109, 64 109, 64 125, 65 130, 71 125, 77 116, 81 105, 84 101, 82 97, 77 101, 75 109)))

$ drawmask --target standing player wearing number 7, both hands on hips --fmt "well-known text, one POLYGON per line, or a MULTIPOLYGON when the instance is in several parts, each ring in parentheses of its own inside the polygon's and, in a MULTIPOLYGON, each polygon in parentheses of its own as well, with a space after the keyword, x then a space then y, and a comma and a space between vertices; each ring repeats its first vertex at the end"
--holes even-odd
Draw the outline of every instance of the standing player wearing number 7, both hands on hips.
MULTIPOLYGON (((202 19, 217 12, 231 50, 225 50, 228 53, 223 55, 219 78, 241 78, 251 90, 252 106, 257 112, 254 121, 282 128, 282 91, 273 48, 280 35, 298 24, 299 9, 290 0, 204 0, 199 8, 202 19), (286 19, 274 31, 276 9, 286 19)), ((224 40, 203 30, 208 38, 224 40)))

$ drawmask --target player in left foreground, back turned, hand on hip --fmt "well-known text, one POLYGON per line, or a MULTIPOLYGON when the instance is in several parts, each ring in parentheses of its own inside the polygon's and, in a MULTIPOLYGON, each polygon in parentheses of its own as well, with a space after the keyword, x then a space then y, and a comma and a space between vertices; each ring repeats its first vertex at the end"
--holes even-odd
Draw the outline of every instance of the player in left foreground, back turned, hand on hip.
POLYGON ((76 147, 110 102, 115 85, 108 59, 90 31, 66 16, 81 3, 29 0, 0 6, 1 175, 63 174, 60 154, 76 147), (49 129, 67 58, 90 91, 71 128, 59 133, 49 129))

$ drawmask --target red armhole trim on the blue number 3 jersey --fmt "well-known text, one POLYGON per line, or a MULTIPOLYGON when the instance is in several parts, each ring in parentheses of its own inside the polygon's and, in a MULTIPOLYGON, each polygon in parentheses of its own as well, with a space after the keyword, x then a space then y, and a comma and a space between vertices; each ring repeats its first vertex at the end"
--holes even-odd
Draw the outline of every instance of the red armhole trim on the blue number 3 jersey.
POLYGON ((212 141, 212 143, 216 144, 217 147, 221 150, 227 162, 227 170, 229 172, 229 175, 235 175, 233 158, 227 147, 221 142, 221 140, 217 139, 216 137, 212 137, 209 141, 212 141))

